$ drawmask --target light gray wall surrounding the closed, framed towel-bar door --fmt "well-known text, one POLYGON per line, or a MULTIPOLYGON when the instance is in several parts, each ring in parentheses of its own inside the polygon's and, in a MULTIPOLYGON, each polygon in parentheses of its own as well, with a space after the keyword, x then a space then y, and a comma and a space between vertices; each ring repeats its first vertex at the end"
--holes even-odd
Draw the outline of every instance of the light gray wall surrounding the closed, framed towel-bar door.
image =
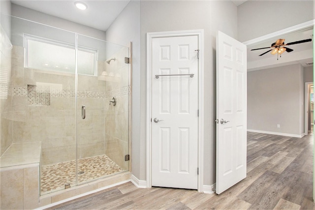
MULTIPOLYGON (((204 184, 215 180, 216 161, 216 34, 237 38, 237 7, 231 1, 141 1, 140 135, 135 149, 137 178, 146 179, 146 34, 175 30, 204 30, 204 184), (224 12, 224 15, 222 15, 224 12)), ((140 79, 140 80, 139 80, 140 79)), ((132 160, 134 161, 134 159, 132 160)))

